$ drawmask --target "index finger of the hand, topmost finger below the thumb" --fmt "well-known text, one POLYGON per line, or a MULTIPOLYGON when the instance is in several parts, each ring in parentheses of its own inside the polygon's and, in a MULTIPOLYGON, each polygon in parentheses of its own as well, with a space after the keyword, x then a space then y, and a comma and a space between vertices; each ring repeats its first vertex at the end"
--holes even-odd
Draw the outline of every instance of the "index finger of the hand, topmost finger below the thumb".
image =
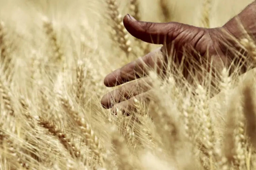
POLYGON ((104 79, 104 84, 107 87, 117 86, 138 78, 142 78, 148 74, 151 69, 161 71, 163 63, 163 53, 161 48, 146 54, 137 60, 128 63, 112 73, 108 74, 104 79))

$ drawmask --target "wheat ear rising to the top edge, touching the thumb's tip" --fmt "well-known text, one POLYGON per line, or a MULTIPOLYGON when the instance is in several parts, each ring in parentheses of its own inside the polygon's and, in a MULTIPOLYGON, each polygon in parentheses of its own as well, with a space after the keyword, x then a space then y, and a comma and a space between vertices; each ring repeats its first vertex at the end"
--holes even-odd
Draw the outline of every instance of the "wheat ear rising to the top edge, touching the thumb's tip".
POLYGON ((123 18, 120 14, 117 6, 116 0, 106 0, 106 3, 108 4, 108 10, 109 10, 109 16, 111 18, 111 26, 113 29, 114 34, 111 36, 114 41, 116 41, 126 54, 127 57, 129 57, 129 54, 132 51, 132 48, 130 46, 130 40, 129 40, 129 34, 127 33, 124 24, 123 24, 123 18))

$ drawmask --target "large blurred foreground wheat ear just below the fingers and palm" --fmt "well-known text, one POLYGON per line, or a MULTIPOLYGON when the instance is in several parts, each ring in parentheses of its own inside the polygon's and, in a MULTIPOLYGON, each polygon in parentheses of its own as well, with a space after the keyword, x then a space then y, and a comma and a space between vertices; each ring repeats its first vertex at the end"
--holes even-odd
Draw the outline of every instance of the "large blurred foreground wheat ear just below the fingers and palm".
MULTIPOLYGON (((160 80, 156 73, 151 72, 150 77, 152 78, 155 87, 159 88, 160 80)), ((174 104, 170 106, 170 103, 172 102, 170 102, 168 96, 164 95, 164 93, 159 90, 152 92, 152 99, 154 100, 154 103, 152 102, 150 104, 150 108, 152 109, 150 111, 150 116, 156 125, 157 132, 161 135, 162 147, 168 151, 167 153, 171 157, 175 158, 177 147, 183 139, 183 133, 177 122, 179 119, 177 117, 179 112, 174 104), (167 102, 168 100, 169 102, 167 102)))

